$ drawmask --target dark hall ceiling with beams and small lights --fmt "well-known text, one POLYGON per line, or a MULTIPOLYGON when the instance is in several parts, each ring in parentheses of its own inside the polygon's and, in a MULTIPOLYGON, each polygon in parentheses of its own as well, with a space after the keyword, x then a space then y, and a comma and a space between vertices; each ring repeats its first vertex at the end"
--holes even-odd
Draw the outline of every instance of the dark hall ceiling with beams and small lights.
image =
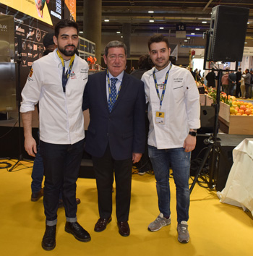
MULTIPOLYGON (((90 0, 89 0, 90 1, 90 0)), ((93 0, 96 1, 96 0, 93 0)), ((122 24, 132 25, 132 34, 175 34, 176 24, 186 25, 186 35, 202 36, 209 30, 212 8, 217 5, 249 8, 246 39, 253 39, 253 1, 178 0, 178 1, 109 1, 102 0, 102 34, 122 32, 122 24), (148 13, 153 11, 154 13, 148 13), (109 19, 109 22, 104 22, 109 19), (154 22, 150 22, 154 20, 154 22), (203 24, 202 22, 207 22, 203 24), (163 30, 160 29, 163 27, 163 30), (196 30, 200 29, 200 30, 196 30)), ((77 22, 82 27, 83 0, 77 0, 77 22)))

